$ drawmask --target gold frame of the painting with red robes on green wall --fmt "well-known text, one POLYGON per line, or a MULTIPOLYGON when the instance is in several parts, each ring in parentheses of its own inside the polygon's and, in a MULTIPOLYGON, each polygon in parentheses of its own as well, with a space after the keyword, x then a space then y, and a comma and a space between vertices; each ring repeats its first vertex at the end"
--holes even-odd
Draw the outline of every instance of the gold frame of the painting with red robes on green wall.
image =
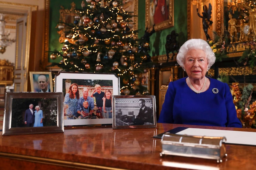
MULTIPOLYGON (((152 29, 153 25, 150 25, 150 4, 152 3, 152 0, 146 0, 146 20, 145 20, 145 24, 146 27, 149 28, 149 30, 152 29)), ((160 22, 159 24, 155 25, 155 30, 159 31, 159 30, 164 30, 166 28, 169 27, 173 27, 174 26, 174 0, 170 0, 170 4, 169 4, 169 19, 163 22, 160 22)))

